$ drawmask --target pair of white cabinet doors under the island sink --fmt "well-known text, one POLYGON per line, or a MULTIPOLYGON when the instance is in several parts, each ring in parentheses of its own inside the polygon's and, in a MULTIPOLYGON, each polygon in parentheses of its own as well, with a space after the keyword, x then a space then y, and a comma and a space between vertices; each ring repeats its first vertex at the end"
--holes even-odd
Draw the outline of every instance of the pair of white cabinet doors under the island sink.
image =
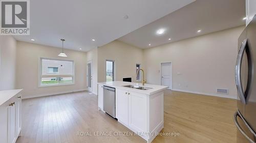
POLYGON ((135 132, 147 132, 147 95, 116 90, 117 119, 135 132))

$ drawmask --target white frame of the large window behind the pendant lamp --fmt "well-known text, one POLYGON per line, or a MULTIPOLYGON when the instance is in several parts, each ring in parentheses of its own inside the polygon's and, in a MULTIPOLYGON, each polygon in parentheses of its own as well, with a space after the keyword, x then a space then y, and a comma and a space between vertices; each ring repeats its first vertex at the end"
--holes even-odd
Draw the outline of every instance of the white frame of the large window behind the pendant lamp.
MULTIPOLYGON (((59 73, 59 72, 58 72, 59 73)), ((54 74, 54 73, 53 73, 54 74)), ((44 87, 59 87, 59 86, 65 86, 65 85, 73 85, 75 84, 75 62, 74 60, 68 60, 68 59, 60 59, 60 58, 45 58, 40 57, 38 60, 38 88, 44 88, 44 87), (72 73, 72 83, 58 83, 58 84, 41 84, 41 78, 42 78, 42 60, 57 60, 57 61, 69 61, 73 63, 73 73, 72 73)))

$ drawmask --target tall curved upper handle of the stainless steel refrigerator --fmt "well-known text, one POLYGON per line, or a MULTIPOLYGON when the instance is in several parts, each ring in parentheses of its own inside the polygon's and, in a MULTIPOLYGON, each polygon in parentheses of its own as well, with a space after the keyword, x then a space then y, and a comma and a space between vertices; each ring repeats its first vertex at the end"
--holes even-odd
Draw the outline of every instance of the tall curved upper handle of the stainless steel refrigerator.
POLYGON ((236 64, 236 85, 237 85, 237 89, 238 89, 238 95, 240 97, 240 100, 243 104, 246 104, 246 100, 245 100, 245 95, 244 95, 244 91, 242 88, 242 81, 241 81, 241 66, 242 66, 242 60, 243 60, 243 55, 244 55, 244 51, 246 48, 246 44, 247 44, 247 39, 245 39, 241 45, 241 48, 238 52, 238 58, 237 58, 237 64, 236 64))

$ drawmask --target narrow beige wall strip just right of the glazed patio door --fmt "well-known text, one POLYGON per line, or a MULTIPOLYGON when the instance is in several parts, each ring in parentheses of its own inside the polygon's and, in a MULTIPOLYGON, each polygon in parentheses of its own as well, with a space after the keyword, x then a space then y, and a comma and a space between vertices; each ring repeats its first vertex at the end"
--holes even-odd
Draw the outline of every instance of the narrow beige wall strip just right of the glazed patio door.
POLYGON ((98 89, 98 49, 92 49, 90 51, 87 52, 87 62, 91 61, 92 62, 92 79, 93 79, 93 83, 92 83, 92 92, 94 94, 97 94, 97 89, 98 89))

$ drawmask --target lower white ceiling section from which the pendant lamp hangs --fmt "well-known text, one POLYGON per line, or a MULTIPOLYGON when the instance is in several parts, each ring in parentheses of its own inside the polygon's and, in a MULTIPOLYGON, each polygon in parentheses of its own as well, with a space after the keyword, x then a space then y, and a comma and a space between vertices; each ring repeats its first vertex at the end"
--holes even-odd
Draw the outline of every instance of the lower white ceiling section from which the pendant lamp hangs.
POLYGON ((30 36, 18 41, 88 51, 118 39, 194 0, 33 0, 30 36), (128 19, 123 16, 128 15, 128 19), (35 39, 35 41, 31 41, 35 39), (92 41, 95 39, 96 41, 92 41))

